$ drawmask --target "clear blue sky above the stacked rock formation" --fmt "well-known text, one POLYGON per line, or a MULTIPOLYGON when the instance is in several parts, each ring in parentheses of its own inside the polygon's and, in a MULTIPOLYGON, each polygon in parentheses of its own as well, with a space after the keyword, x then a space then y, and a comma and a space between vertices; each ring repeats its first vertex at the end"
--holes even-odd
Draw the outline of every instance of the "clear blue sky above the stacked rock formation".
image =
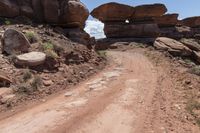
POLYGON ((107 2, 119 2, 132 6, 141 4, 163 3, 168 13, 179 13, 179 18, 200 16, 200 0, 81 0, 90 11, 107 2))

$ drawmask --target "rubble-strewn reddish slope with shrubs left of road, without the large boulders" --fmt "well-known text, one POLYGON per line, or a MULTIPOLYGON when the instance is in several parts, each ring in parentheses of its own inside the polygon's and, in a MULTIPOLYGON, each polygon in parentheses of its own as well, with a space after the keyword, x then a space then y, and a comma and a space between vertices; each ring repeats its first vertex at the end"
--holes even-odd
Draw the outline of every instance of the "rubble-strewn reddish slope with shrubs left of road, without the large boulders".
MULTIPOLYGON (((10 55, 0 54, 0 80, 10 81, 6 80, 6 84, 1 81, 1 112, 13 110, 14 106, 28 104, 32 100, 44 100, 48 95, 79 83, 105 64, 103 57, 92 47, 89 49, 83 44, 72 42, 48 25, 4 25, 0 27, 1 37, 6 29, 23 33, 30 42, 28 52, 45 53, 48 59, 43 64, 32 66, 33 62, 27 64, 16 59, 20 51, 10 55)), ((14 41, 17 41, 16 38, 14 41)), ((3 51, 3 47, 0 50, 3 51)), ((31 59, 39 58, 40 53, 31 55, 31 59)))

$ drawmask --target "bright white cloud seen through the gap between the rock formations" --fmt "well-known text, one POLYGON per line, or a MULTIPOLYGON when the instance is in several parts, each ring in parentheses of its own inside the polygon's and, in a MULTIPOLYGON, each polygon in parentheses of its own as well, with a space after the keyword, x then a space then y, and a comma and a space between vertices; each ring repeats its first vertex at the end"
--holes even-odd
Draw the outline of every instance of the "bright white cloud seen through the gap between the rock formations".
POLYGON ((87 20, 85 31, 90 34, 91 37, 95 37, 96 39, 105 38, 105 34, 103 31, 104 24, 98 20, 87 20))

